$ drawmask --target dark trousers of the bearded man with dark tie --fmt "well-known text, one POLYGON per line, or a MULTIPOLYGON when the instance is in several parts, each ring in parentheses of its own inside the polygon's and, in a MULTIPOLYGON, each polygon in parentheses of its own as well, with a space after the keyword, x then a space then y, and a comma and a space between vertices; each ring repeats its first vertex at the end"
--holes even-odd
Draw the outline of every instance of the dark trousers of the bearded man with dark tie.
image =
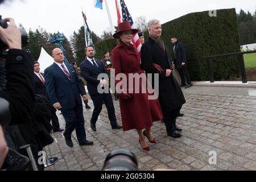
POLYGON ((111 94, 110 93, 97 94, 97 95, 90 96, 90 98, 92 98, 93 105, 94 105, 92 119, 90 119, 90 122, 93 125, 96 124, 98 120, 98 116, 101 113, 102 105, 104 101, 106 108, 108 110, 110 125, 112 127, 117 126, 117 118, 115 118, 115 108, 114 108, 111 94))

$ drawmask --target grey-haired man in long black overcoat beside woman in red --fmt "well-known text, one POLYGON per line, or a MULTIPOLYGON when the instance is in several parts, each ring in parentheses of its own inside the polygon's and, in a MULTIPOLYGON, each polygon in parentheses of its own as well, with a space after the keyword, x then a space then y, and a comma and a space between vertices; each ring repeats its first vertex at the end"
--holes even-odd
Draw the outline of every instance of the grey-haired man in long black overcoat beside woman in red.
POLYGON ((185 98, 172 74, 172 64, 166 45, 160 39, 162 27, 159 20, 150 20, 148 31, 150 37, 141 49, 142 69, 147 74, 159 73, 159 88, 155 87, 154 82, 152 82, 152 86, 155 90, 159 89, 159 102, 166 123, 167 134, 178 138, 181 137, 181 134, 176 131, 181 131, 181 129, 176 126, 176 117, 185 103, 185 98))

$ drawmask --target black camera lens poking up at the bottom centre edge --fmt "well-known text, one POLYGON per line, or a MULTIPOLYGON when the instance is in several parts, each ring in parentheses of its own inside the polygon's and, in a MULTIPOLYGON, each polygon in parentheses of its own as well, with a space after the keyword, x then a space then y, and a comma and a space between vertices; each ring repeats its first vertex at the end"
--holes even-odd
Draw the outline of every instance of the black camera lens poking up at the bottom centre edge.
POLYGON ((138 160, 133 152, 117 149, 106 156, 103 171, 138 171, 138 160))

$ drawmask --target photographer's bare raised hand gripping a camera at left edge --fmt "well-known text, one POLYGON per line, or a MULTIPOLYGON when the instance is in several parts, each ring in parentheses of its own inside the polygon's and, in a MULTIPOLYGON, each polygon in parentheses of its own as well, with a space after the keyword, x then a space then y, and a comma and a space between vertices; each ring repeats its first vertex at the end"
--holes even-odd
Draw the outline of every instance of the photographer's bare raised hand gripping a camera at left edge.
POLYGON ((7 28, 0 26, 0 38, 7 44, 9 49, 22 49, 21 32, 16 26, 13 18, 4 19, 6 22, 10 22, 7 28))

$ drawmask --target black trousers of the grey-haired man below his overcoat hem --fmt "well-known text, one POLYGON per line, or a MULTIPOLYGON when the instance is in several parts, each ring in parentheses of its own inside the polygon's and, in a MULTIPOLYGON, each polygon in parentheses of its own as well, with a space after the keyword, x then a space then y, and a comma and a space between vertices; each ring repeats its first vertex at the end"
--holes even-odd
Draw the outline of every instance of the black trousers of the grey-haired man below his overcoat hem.
POLYGON ((180 113, 181 107, 182 106, 176 109, 162 111, 164 123, 166 124, 167 134, 174 133, 176 128, 176 118, 180 113))

